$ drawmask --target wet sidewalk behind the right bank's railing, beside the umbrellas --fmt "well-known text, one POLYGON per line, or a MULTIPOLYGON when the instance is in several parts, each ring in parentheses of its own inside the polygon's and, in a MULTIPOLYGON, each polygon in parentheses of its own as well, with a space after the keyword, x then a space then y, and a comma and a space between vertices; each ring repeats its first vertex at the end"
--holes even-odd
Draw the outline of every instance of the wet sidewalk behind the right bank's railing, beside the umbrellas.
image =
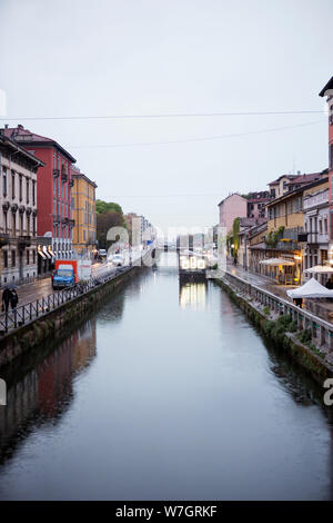
MULTIPOLYGON (((251 273, 250 270, 245 270, 243 267, 230 263, 226 264, 226 269, 229 273, 239 276, 245 282, 249 282, 249 284, 261 287, 272 294, 275 294, 275 296, 280 298, 293 303, 293 300, 287 296, 286 290, 296 288, 296 286, 280 285, 268 276, 258 273, 251 273)), ((326 322, 333 322, 333 303, 329 302, 327 299, 303 299, 303 309, 315 314, 326 322)))

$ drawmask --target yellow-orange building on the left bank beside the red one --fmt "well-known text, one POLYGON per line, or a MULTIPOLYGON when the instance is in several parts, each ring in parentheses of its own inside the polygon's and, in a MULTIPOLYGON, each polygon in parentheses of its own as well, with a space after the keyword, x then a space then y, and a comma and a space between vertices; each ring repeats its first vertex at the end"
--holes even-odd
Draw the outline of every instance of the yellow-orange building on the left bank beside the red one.
POLYGON ((75 225, 73 247, 79 256, 93 258, 97 248, 97 184, 80 171, 73 174, 72 208, 75 225))

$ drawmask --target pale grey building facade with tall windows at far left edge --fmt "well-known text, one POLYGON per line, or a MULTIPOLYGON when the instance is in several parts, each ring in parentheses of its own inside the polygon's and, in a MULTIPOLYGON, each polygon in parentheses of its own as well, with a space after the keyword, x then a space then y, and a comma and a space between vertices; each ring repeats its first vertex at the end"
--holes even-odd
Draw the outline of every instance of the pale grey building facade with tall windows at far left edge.
POLYGON ((38 275, 37 172, 43 162, 0 134, 0 280, 29 282, 38 275))

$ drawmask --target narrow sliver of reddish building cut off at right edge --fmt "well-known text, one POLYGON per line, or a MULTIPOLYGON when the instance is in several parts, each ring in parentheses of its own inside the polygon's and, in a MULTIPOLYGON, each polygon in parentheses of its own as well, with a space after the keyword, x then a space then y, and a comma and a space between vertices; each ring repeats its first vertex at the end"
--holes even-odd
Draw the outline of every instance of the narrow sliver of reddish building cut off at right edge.
POLYGON ((333 77, 321 90, 320 96, 326 97, 329 106, 329 259, 333 262, 333 77))

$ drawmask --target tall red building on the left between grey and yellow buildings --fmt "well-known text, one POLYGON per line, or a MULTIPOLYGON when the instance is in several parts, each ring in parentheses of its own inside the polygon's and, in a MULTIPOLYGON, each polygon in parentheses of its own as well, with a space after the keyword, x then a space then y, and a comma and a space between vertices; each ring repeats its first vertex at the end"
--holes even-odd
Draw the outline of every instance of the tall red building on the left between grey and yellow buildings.
MULTIPOLYGON (((37 180, 38 236, 52 238, 56 258, 71 258, 74 226, 71 188, 75 158, 52 138, 36 135, 23 126, 6 128, 3 132, 43 161, 37 180)), ((46 257, 44 250, 44 254, 39 251, 46 257)))

